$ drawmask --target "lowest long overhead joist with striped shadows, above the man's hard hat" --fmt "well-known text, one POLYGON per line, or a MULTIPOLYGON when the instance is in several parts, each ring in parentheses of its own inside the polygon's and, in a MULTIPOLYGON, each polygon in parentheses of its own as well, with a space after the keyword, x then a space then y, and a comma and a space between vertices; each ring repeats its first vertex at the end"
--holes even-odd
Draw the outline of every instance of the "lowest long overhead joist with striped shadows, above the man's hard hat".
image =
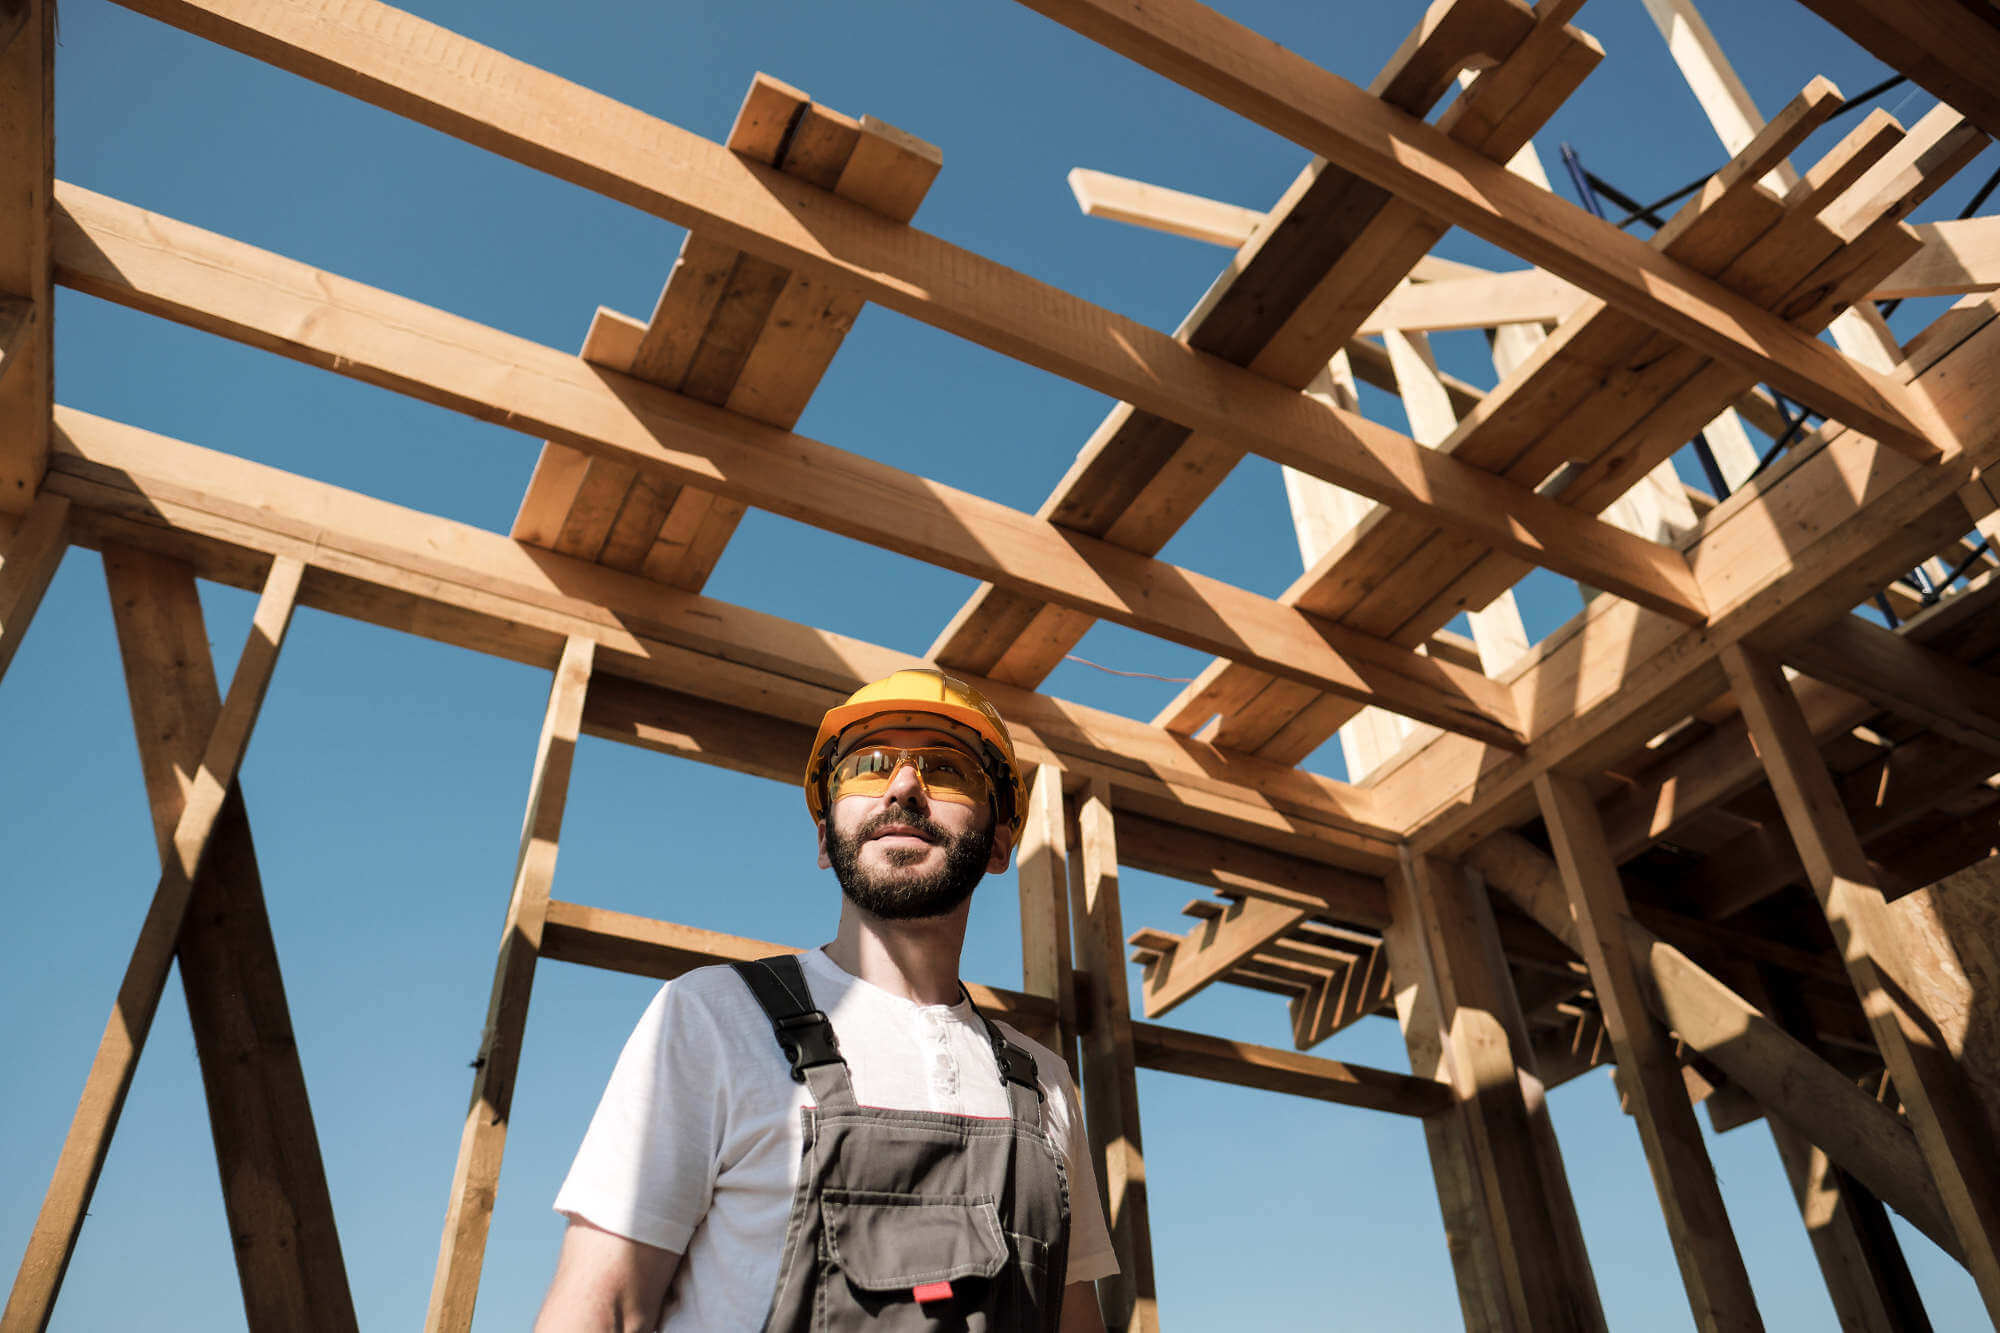
MULTIPOLYGON (((82 222, 88 242, 68 226, 58 228, 68 284, 482 418, 532 426, 552 440, 626 460, 660 478, 730 494, 1132 628, 1172 626, 1166 636, 1188 638, 1222 656, 1246 654, 1260 669, 1310 681, 1316 689, 1394 699, 1398 711, 1436 725, 1470 727, 1500 743, 1512 735, 1512 699, 1478 673, 1314 624, 1270 598, 1062 532, 982 496, 652 384, 612 378, 552 348, 102 196, 66 186, 64 202, 68 220, 92 218, 82 222), (74 264, 88 264, 90 272, 74 264)), ((1686 568, 1678 554, 1640 544, 1686 568)))

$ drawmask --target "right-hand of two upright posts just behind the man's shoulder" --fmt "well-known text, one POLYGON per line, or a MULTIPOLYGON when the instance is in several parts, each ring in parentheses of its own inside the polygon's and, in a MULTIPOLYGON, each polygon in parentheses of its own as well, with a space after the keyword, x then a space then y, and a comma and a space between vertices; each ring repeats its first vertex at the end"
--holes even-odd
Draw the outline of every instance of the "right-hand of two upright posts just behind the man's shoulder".
POLYGON ((1152 1225, 1146 1215, 1146 1153, 1138 1127, 1138 1067, 1132 1053, 1132 999, 1124 973, 1124 919, 1118 911, 1118 839, 1110 783, 1092 779, 1076 803, 1070 857, 1070 911, 1076 965, 1084 983, 1084 1121, 1104 1183, 1118 1275, 1098 1283, 1110 1333, 1156 1333, 1152 1225))

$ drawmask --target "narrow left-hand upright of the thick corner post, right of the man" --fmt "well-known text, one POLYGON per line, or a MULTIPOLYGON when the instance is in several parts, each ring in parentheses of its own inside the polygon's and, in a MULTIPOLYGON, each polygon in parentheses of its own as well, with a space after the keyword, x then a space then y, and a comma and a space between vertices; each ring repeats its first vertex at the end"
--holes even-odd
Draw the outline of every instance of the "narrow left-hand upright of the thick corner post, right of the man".
MULTIPOLYGON (((1416 895, 1406 885, 1402 875, 1390 881, 1390 923, 1382 931, 1388 971, 1396 983, 1396 1021, 1410 1049, 1410 1073, 1456 1087, 1454 1063, 1444 1053, 1444 1021, 1430 975, 1424 921, 1416 895)), ((1472 1107, 1454 1101, 1448 1111, 1426 1117, 1424 1147, 1430 1151, 1430 1175, 1444 1215, 1444 1245, 1452 1255, 1466 1333, 1512 1333, 1500 1247, 1486 1211, 1478 1149, 1472 1145, 1472 1107)))

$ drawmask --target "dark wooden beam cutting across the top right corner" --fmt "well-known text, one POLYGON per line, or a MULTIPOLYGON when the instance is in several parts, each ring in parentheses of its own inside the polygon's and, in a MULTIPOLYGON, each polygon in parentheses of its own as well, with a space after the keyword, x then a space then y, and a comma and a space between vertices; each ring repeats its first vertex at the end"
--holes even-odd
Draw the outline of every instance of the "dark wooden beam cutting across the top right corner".
POLYGON ((1974 4, 1910 0, 1884 12, 1866 0, 1800 0, 1882 64, 2000 136, 2000 34, 1974 4))

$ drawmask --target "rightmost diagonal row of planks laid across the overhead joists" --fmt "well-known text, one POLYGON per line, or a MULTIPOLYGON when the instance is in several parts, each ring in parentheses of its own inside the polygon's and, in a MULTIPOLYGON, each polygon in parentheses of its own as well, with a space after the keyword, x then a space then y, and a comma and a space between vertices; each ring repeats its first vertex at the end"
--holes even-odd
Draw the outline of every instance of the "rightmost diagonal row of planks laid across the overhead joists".
MULTIPOLYGON (((1662 228, 1654 244, 1730 276, 1774 306, 1804 298, 1812 308, 1800 308, 1800 320, 1824 326, 1836 304, 1826 288, 1828 264, 1850 262, 1840 258, 1842 242, 1822 224, 1818 210, 1780 210, 1756 178, 1766 162, 1782 158, 1834 108, 1830 84, 1816 80, 1710 182, 1702 198, 1662 228)), ((1880 126, 1880 120, 1864 124, 1854 138, 1868 140, 1880 126)), ((1920 138, 1908 152, 1916 158, 1930 144, 1930 136, 1920 138)), ((1944 164, 1926 174, 1898 176, 1898 190, 1886 196, 1866 182, 1858 184, 1868 192, 1850 224, 1892 220, 1936 188, 1960 156, 1974 150, 1964 134, 1952 144, 1954 154, 1946 154, 1944 164)), ((1822 200, 1818 208, 1826 204, 1822 200)), ((1868 250, 1866 244, 1852 248, 1868 250)), ((1878 266, 1888 262, 1894 256, 1874 258, 1878 266)), ((1850 274, 1846 282, 1850 290, 1844 294, 1858 294, 1866 280, 1850 274)), ((1564 460, 1590 460, 1570 470, 1562 498, 1600 510, 1630 486, 1634 474, 1680 448, 1746 386, 1738 372, 1674 348, 1622 312, 1592 302, 1506 376, 1440 450, 1506 468, 1528 484, 1542 484, 1564 460), (1616 370, 1608 374, 1606 366, 1616 370), (1554 402, 1566 410, 1554 412, 1554 402)), ((1518 562, 1482 552, 1476 540, 1458 532, 1376 510, 1294 582, 1284 600, 1412 644, 1460 608, 1484 606, 1522 572, 1518 562)), ((1222 715, 1226 727, 1216 733, 1218 741, 1296 763, 1352 717, 1352 709, 1316 699, 1292 683, 1214 664, 1162 711, 1160 721, 1194 733, 1212 715, 1222 715)))

